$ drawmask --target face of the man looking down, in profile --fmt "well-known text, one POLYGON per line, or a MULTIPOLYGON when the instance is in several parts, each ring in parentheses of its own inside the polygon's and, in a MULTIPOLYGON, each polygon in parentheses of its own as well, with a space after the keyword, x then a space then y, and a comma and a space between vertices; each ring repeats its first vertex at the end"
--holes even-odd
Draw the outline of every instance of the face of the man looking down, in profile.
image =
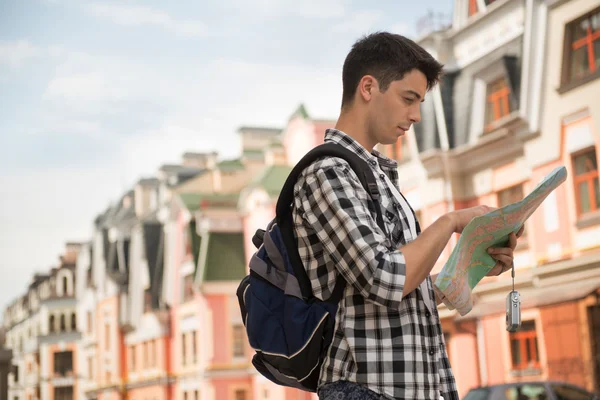
POLYGON ((396 143, 412 124, 421 120, 421 102, 426 92, 427 78, 416 69, 393 81, 383 93, 377 86, 369 111, 372 138, 381 144, 396 143))

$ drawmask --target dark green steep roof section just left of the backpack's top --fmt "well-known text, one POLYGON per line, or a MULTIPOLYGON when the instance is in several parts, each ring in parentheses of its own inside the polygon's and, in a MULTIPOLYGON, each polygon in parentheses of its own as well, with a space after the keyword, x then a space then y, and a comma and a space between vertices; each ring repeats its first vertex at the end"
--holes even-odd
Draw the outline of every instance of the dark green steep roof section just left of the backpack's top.
POLYGON ((244 235, 242 233, 207 234, 206 256, 199 270, 201 282, 238 281, 246 274, 244 235))

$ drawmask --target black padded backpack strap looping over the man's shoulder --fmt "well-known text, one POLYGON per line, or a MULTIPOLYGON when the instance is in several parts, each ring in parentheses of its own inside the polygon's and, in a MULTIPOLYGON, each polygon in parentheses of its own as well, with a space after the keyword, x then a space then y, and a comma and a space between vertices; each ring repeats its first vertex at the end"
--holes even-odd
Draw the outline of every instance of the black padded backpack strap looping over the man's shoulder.
MULTIPOLYGON (((298 243, 294 235, 291 213, 292 204, 294 201, 294 186, 296 185, 296 182, 298 181, 298 178, 300 177, 302 171, 304 171, 317 159, 323 157, 338 157, 345 160, 350 165, 350 168, 352 168, 354 173, 358 176, 360 183, 373 200, 373 204, 375 205, 375 211, 377 214, 377 225, 385 234, 387 234, 385 223, 383 221, 381 204, 379 202, 379 187, 377 186, 377 180, 371 167, 355 153, 337 143, 325 143, 310 150, 294 166, 294 168, 288 175, 277 200, 277 206, 275 209, 276 220, 280 226, 285 246, 286 248, 291 250, 288 253, 288 257, 290 258, 290 262, 292 263, 292 267, 294 268, 294 274, 296 275, 296 279, 298 279, 298 283, 300 284, 302 297, 305 300, 309 300, 310 298, 312 298, 313 294, 310 280, 297 251, 298 243)), ((335 285, 335 289, 328 302, 333 302, 337 304, 342 298, 345 285, 346 281, 342 276, 339 276, 335 285)))

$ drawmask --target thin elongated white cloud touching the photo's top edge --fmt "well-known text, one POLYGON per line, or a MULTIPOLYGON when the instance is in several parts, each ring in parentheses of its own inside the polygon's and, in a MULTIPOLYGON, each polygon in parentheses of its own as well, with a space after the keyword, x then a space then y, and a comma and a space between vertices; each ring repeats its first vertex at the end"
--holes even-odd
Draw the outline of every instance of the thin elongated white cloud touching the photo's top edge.
POLYGON ((208 33, 201 21, 178 20, 168 13, 147 6, 115 3, 91 3, 86 9, 92 15, 123 26, 156 25, 188 37, 202 37, 208 33))

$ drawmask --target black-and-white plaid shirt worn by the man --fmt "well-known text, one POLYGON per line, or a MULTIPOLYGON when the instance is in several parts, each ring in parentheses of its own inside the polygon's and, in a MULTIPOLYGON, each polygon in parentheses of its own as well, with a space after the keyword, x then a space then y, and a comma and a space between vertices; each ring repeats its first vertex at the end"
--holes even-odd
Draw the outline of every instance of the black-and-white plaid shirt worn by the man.
MULTIPOLYGON (((345 380, 389 398, 458 399, 435 303, 427 306, 421 287, 403 295, 406 264, 398 248, 415 238, 382 175, 397 186, 397 163, 335 129, 325 141, 371 165, 389 234, 378 227, 373 202, 344 160, 323 158, 302 172, 293 215, 313 292, 327 299, 338 274, 348 282, 319 386, 345 380)), ((426 282, 435 299, 431 278, 426 282)))

